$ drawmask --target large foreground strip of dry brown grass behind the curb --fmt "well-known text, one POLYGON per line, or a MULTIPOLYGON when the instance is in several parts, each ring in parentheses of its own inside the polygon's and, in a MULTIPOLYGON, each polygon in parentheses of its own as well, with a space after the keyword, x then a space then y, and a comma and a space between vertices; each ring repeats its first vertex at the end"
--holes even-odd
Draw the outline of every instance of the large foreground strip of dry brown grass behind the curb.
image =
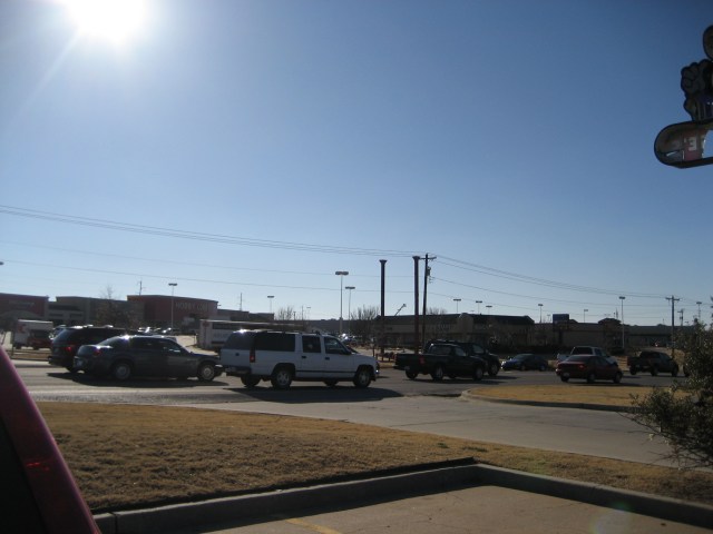
POLYGON ((462 457, 713 504, 710 473, 334 421, 166 406, 39 407, 95 513, 462 457))

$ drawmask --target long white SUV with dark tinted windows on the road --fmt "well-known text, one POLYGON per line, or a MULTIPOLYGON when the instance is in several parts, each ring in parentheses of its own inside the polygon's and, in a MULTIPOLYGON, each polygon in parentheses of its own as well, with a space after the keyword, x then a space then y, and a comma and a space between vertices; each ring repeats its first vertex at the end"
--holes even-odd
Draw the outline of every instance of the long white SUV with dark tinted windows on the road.
POLYGON ((353 353, 335 337, 296 332, 234 332, 221 349, 221 364, 247 387, 268 379, 277 389, 289 388, 293 380, 328 386, 351 380, 368 387, 379 374, 375 358, 353 353))

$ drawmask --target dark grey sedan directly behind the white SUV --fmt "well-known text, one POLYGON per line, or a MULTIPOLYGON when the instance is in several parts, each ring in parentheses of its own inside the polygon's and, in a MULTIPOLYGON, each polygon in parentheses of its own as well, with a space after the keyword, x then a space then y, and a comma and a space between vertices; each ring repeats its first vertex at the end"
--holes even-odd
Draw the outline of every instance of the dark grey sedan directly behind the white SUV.
POLYGON ((75 370, 88 375, 110 375, 117 380, 131 376, 197 377, 211 382, 223 373, 212 354, 192 353, 173 339, 160 336, 117 336, 98 345, 82 345, 75 356, 75 370))

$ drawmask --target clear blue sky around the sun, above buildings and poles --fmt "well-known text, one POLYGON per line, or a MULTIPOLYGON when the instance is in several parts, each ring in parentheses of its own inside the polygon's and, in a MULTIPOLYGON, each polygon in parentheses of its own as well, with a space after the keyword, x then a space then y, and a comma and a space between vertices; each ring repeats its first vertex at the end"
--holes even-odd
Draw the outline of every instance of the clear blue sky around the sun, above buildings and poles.
POLYGON ((123 41, 0 2, 0 291, 709 322, 710 0, 148 0, 123 41), (420 265, 423 273, 423 263, 420 265), (421 280, 422 281, 422 280, 421 280), (422 284, 421 284, 422 290, 422 284), (460 298, 460 301, 455 301, 460 298), (478 305, 477 300, 482 304, 478 305), (491 306, 487 308, 487 306, 491 306))

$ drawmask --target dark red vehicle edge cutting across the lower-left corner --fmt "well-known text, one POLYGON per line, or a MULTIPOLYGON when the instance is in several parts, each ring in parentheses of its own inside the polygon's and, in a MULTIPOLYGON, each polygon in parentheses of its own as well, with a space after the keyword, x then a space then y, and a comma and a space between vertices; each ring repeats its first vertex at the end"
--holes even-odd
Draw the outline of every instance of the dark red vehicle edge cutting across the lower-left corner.
POLYGON ((1 347, 0 465, 0 532, 100 532, 42 415, 1 347))

